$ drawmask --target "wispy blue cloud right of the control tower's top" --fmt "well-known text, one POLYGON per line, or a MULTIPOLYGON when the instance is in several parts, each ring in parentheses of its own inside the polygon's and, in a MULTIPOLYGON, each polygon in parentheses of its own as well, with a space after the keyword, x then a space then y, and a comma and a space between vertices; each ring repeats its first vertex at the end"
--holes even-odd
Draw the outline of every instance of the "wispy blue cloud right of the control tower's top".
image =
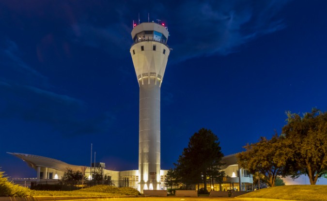
POLYGON ((179 39, 173 44, 178 51, 174 60, 227 55, 256 37, 284 29, 286 25, 278 13, 286 3, 285 0, 193 0, 181 4, 176 8, 171 29, 171 35, 177 34, 179 39))

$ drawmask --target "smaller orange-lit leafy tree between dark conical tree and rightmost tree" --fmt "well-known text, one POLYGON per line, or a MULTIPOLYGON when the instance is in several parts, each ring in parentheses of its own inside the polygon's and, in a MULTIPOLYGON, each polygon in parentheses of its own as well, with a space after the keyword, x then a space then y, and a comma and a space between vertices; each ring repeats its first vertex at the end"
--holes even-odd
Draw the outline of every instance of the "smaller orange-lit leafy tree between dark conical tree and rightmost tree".
POLYGON ((283 175, 285 172, 290 153, 280 137, 277 134, 270 140, 261 137, 259 142, 247 144, 244 148, 245 152, 236 155, 239 165, 252 174, 259 172, 264 175, 269 186, 275 186, 277 175, 283 175))

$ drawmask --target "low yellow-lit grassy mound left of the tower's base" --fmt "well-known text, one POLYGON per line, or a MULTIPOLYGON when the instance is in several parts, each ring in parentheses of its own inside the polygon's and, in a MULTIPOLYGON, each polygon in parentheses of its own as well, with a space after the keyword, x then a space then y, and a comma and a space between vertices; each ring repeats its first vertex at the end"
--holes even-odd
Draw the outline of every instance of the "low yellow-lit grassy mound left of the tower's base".
POLYGON ((138 196, 139 191, 131 187, 98 185, 74 191, 35 191, 35 196, 138 196))

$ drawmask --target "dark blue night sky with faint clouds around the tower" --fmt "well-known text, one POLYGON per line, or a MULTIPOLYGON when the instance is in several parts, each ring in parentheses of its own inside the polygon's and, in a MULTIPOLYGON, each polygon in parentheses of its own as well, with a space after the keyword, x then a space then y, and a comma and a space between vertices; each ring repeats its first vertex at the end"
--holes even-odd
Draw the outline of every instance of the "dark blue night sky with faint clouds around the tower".
POLYGON ((133 20, 161 19, 173 48, 161 87, 161 168, 211 129, 242 151, 327 110, 327 1, 1 0, 0 167, 35 177, 17 152, 138 169, 133 20))

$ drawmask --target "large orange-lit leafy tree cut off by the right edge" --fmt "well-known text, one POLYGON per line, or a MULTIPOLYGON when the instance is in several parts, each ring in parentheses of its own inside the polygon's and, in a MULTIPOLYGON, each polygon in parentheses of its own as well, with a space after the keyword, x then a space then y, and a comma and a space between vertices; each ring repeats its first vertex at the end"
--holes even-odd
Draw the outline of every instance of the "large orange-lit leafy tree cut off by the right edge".
POLYGON ((288 111, 287 117, 282 134, 293 150, 288 174, 292 178, 306 174, 315 185, 327 173, 327 112, 313 108, 301 117, 288 111))

